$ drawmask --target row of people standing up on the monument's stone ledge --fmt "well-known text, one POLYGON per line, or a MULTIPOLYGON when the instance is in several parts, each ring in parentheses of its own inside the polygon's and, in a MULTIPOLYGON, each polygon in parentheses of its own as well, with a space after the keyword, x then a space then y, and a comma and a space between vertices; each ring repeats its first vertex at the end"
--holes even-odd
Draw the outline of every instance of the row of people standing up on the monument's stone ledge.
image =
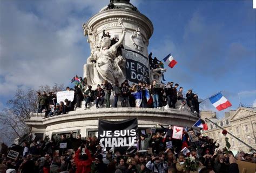
POLYGON ((136 98, 134 92, 142 92, 142 103, 139 107, 150 107, 153 109, 160 109, 163 106, 167 106, 173 109, 177 109, 177 102, 180 105, 186 105, 193 113, 197 113, 199 117, 199 101, 198 96, 188 90, 186 97, 183 95, 183 87, 179 87, 179 84, 173 82, 167 82, 166 84, 159 84, 157 81, 152 81, 151 84, 139 82, 138 84, 129 85, 129 82, 125 80, 119 84, 117 81, 114 84, 104 81, 102 84, 97 85, 96 90, 92 90, 91 85, 87 85, 86 78, 80 77, 79 83, 76 83, 74 89, 66 87, 66 90, 74 91, 74 99, 65 99, 64 102, 57 102, 55 93, 49 92, 47 95, 44 91, 41 95, 37 93, 37 112, 46 112, 47 117, 65 114, 73 111, 76 108, 82 107, 82 101, 85 101, 84 109, 89 109, 95 103, 96 108, 103 107, 106 103, 106 107, 117 107, 118 100, 122 107, 138 107, 136 105, 136 98), (110 97, 113 97, 111 100, 110 97), (111 103, 113 102, 113 103, 111 103))

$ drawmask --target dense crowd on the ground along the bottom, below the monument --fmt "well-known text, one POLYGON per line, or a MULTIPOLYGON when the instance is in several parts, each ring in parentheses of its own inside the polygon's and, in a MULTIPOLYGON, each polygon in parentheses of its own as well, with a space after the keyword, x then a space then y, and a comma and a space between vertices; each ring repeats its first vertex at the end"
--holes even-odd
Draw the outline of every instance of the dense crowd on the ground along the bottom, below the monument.
POLYGON ((74 138, 73 132, 49 141, 28 138, 22 147, 12 145, 8 148, 2 143, 0 172, 237 173, 237 160, 252 163, 256 161, 256 153, 251 155, 240 152, 234 156, 226 148, 218 149, 219 145, 208 136, 199 135, 197 141, 191 142, 184 131, 183 140, 172 139, 172 126, 161 127, 156 133, 140 134, 137 152, 134 153, 120 153, 114 149, 107 152, 99 145, 96 136, 82 139, 78 135, 74 138), (171 148, 166 146, 169 141, 172 141, 171 148), (60 148, 60 143, 66 143, 66 148, 60 148), (184 147, 189 149, 188 153, 181 152, 184 147), (19 152, 16 159, 6 157, 10 149, 19 152))

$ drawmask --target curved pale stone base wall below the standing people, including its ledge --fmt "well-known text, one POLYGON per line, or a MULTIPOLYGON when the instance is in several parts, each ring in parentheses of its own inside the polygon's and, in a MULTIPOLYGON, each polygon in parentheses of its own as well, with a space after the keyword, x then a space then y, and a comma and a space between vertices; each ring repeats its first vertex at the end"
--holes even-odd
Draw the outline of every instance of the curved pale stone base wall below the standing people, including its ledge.
MULTIPOLYGON (((100 108, 69 112, 60 116, 44 118, 43 113, 31 113, 31 119, 26 124, 32 133, 44 133, 51 138, 52 134, 62 134, 78 131, 82 136, 98 130, 98 119, 124 120, 138 118, 140 129, 151 128, 161 124, 191 127, 198 120, 195 114, 187 109, 151 109, 136 107, 100 108)), ((160 127, 160 126, 158 126, 160 127)))

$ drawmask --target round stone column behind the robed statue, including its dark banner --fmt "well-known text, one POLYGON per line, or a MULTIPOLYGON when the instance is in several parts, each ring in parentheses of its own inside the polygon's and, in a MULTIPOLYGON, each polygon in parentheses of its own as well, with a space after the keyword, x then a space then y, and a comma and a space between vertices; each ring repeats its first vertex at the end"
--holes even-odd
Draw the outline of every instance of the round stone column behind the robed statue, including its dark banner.
MULTIPOLYGON (((103 30, 105 30, 105 33, 109 32, 111 38, 120 38, 123 27, 125 27, 124 49, 122 49, 122 56, 126 60, 125 68, 122 69, 124 76, 131 83, 138 83, 138 81, 150 82, 151 74, 147 46, 153 33, 153 25, 150 19, 140 13, 136 7, 128 3, 114 3, 113 9, 108 9, 108 6, 105 6, 99 13, 91 17, 84 27, 86 27, 87 33, 85 35, 88 35, 87 41, 90 43, 92 50, 91 56, 95 54, 96 47, 99 47, 103 30), (121 25, 119 20, 122 20, 121 25)), ((87 61, 87 63, 90 63, 90 61, 87 61)), ((85 64, 84 77, 90 78, 91 76, 88 74, 87 65, 85 64)), ((121 82, 123 81, 119 81, 119 83, 121 82)))

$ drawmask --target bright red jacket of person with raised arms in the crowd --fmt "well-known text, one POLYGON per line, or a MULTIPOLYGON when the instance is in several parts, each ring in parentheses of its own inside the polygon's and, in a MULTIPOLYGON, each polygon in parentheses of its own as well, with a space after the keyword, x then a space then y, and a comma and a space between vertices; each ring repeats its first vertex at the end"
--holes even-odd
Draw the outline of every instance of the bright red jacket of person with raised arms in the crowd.
POLYGON ((86 161, 82 161, 79 159, 79 154, 81 153, 81 150, 78 149, 75 155, 75 162, 77 165, 76 173, 89 173, 91 171, 91 163, 92 163, 92 157, 90 154, 90 151, 88 149, 85 149, 85 154, 87 154, 88 159, 86 161))

